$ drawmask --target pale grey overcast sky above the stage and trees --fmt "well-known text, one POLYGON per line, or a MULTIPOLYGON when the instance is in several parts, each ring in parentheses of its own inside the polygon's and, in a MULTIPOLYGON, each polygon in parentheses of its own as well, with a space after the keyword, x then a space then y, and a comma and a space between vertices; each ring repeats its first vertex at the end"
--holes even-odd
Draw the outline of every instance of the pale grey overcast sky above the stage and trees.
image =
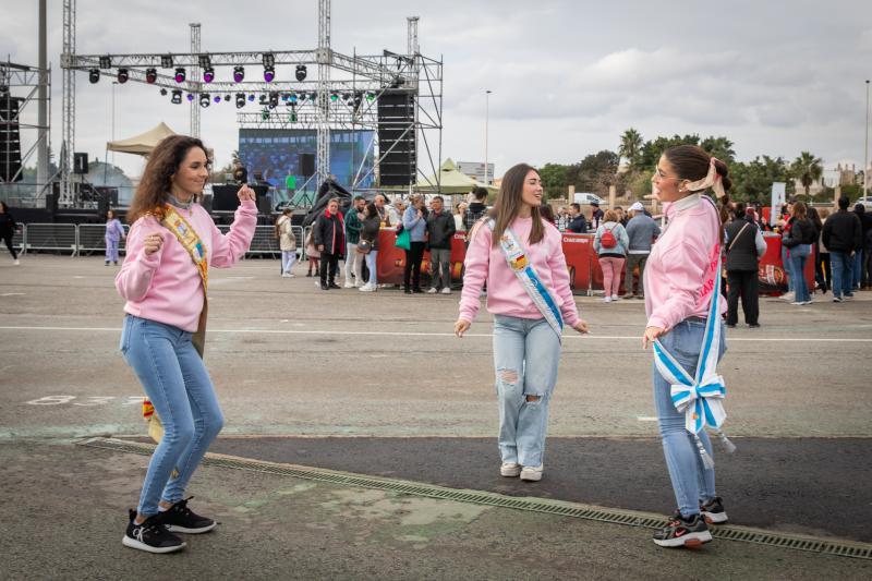
MULTIPOLYGON (((48 4, 51 140, 59 152, 62 3, 48 4)), ((0 56, 35 65, 36 0, 0 0, 0 56)), ((332 0, 332 48, 404 52, 409 15, 421 17, 421 52, 445 60, 444 156, 484 159, 491 89, 488 157, 497 175, 519 161, 568 164, 616 150, 630 126, 645 138, 726 135, 742 160, 810 150, 827 167, 862 165, 870 0, 332 0)), ((317 46, 316 0, 77 0, 76 50, 186 52, 190 22, 203 25, 204 51, 317 46)), ((75 148, 102 159, 111 83, 92 85, 78 73, 76 99, 75 148)), ((187 112, 155 87, 121 85, 116 137, 159 121, 186 132, 187 112)), ((203 111, 201 133, 218 165, 238 146, 235 112, 230 104, 203 111)), ((136 156, 116 160, 129 174, 142 169, 136 156)))

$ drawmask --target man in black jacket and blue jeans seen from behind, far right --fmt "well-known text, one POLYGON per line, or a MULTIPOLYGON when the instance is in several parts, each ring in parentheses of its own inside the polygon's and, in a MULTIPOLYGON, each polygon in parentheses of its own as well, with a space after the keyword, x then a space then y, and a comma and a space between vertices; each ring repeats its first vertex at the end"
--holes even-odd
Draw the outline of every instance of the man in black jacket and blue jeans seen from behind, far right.
POLYGON ((833 302, 853 298, 853 255, 862 249, 863 227, 860 218, 848 211, 847 196, 838 198, 838 211, 824 222, 823 243, 829 250, 833 268, 833 302), (843 298, 844 295, 844 298, 843 298))

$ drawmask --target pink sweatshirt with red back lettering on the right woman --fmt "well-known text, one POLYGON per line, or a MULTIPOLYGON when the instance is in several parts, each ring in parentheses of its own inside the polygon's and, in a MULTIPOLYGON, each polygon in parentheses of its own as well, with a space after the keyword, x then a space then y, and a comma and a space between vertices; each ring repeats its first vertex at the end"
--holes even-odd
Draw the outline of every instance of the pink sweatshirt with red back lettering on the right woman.
MULTIPOLYGON (((645 265, 645 313, 649 327, 671 329, 708 315, 723 238, 717 210, 699 195, 664 204, 664 211, 669 222, 645 265)), ((724 313, 727 302, 717 299, 724 313)))

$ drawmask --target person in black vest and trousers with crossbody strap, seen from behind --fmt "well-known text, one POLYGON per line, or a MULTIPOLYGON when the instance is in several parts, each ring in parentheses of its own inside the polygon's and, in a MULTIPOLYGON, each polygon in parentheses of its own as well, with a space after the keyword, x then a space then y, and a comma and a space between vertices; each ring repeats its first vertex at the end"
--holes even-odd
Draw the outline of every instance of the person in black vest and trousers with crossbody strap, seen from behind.
POLYGON ((732 208, 735 219, 725 230, 727 270, 727 327, 736 327, 739 320, 739 298, 742 300, 744 322, 751 328, 760 327, 760 296, 758 295, 760 258, 766 253, 766 241, 746 213, 744 204, 732 208))

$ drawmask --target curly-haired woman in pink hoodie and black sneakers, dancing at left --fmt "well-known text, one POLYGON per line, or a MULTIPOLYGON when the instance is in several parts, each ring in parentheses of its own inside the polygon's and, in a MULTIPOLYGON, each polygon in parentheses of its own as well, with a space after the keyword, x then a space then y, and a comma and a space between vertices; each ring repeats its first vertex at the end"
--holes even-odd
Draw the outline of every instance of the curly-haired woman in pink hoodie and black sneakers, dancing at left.
POLYGON ((206 286, 209 267, 229 267, 249 250, 257 207, 254 192, 243 185, 233 226, 221 234, 196 202, 208 177, 199 140, 173 135, 157 145, 128 211, 128 254, 116 277, 128 301, 121 352, 164 426, 122 540, 149 553, 182 549, 172 532, 204 533, 216 525, 184 498, 223 424, 202 359, 206 286))

